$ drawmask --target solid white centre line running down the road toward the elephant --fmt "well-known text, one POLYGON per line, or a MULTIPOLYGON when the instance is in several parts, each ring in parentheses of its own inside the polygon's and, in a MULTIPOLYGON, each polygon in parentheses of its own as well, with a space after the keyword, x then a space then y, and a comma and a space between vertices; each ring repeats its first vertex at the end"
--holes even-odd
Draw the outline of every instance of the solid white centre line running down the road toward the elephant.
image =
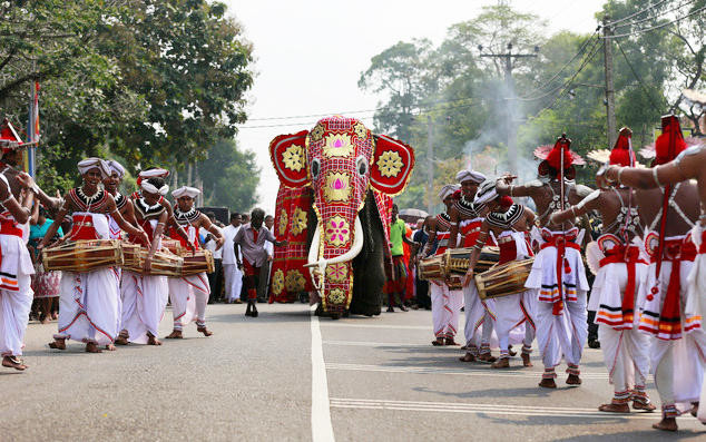
POLYGON ((335 438, 333 435, 333 425, 331 424, 329 381, 326 379, 318 316, 314 314, 316 306, 312 306, 312 440, 314 442, 333 442, 335 438))

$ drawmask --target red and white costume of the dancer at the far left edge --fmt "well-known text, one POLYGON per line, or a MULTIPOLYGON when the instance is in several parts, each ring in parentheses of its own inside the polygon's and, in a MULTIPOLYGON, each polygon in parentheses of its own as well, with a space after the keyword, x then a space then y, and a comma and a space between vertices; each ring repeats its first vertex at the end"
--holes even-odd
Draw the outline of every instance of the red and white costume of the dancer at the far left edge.
MULTIPOLYGON (((0 179, 10 185, 0 174, 0 179)), ((18 224, 0 205, 0 355, 20 356, 32 306, 31 275, 35 273, 27 249, 29 225, 18 224)))

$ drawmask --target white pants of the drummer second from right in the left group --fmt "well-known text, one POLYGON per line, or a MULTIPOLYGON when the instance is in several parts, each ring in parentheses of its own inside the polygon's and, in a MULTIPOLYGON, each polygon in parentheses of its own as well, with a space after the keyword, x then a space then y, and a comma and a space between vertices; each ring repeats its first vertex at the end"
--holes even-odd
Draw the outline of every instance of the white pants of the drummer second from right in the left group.
POLYGON ((122 326, 129 341, 146 344, 147 334, 158 336, 158 327, 167 306, 166 276, 144 276, 122 272, 122 326))

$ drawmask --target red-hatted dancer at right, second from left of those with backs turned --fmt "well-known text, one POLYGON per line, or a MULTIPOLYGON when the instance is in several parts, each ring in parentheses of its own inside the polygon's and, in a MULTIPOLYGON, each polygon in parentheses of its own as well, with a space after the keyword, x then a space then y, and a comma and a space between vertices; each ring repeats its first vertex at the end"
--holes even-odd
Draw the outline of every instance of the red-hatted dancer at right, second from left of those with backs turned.
MULTIPOLYGON (((635 167, 631 135, 630 129, 620 129, 611 151, 589 153, 589 158, 635 167)), ((633 190, 625 186, 594 190, 578 205, 553 213, 550 220, 560 224, 590 210, 600 213, 602 234, 597 240, 598 249, 592 249, 598 252, 589 249, 586 253, 589 265, 598 262, 599 266, 588 310, 597 312, 604 361, 615 391, 612 401, 598 410, 629 413, 629 402, 633 401, 633 409, 653 411, 655 405, 645 390, 649 373, 649 340, 638 331, 639 310, 636 305, 647 274, 640 244, 644 232, 636 198, 633 190)))

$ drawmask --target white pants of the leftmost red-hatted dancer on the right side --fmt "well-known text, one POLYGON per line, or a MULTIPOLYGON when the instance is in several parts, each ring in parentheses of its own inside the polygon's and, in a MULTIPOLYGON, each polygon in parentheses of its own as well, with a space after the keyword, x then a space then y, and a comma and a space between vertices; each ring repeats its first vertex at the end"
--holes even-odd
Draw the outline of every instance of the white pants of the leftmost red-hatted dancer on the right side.
POLYGON ((545 370, 553 369, 561 362, 561 355, 569 365, 579 365, 584 344, 588 338, 588 312, 586 293, 577 293, 577 301, 565 302, 560 315, 552 314, 553 304, 537 302, 537 341, 542 354, 545 370))

